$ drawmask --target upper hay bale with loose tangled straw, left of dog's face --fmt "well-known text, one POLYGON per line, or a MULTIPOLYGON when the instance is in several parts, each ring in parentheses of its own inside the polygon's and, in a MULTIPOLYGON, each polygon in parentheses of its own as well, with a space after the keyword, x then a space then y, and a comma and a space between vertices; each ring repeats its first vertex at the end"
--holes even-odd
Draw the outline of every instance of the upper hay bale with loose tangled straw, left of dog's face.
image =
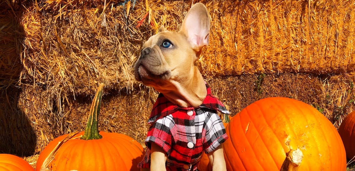
MULTIPOLYGON (((52 4, 57 2, 62 1, 53 1, 52 4)), ((93 88, 97 82, 104 82, 111 89, 133 90, 136 82, 132 64, 142 41, 155 33, 154 29, 160 25, 136 27, 136 21, 147 13, 142 5, 137 4, 136 10, 131 6, 127 18, 128 5, 109 4, 110 8, 105 12, 103 7, 63 8, 54 14, 33 6, 22 17, 23 24, 27 25, 26 32, 31 30, 33 33, 26 36, 26 47, 30 50, 24 51, 22 64, 26 79, 22 82, 44 84, 54 96, 58 93, 88 95, 95 91, 93 88), (104 13, 106 26, 102 26, 104 13)), ((178 12, 164 9, 163 5, 154 5, 157 7, 151 17, 178 12)), ((181 6, 179 2, 169 5, 172 9, 181 6)))

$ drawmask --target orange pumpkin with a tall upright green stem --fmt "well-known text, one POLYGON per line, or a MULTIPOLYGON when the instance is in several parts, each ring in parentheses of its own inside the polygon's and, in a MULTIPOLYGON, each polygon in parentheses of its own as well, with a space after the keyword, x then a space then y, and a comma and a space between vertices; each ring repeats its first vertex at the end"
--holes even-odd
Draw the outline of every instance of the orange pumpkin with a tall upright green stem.
POLYGON ((126 135, 98 131, 102 89, 103 84, 100 84, 91 104, 85 131, 63 135, 51 141, 40 154, 36 170, 140 170, 137 164, 144 153, 140 143, 126 135))

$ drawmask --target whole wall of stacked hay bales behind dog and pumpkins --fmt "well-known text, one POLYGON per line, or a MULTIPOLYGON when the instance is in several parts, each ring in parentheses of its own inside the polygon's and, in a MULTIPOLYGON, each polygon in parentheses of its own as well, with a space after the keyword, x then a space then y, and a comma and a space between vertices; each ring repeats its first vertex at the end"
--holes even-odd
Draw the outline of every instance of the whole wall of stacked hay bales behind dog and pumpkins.
MULTIPOLYGON (((11 102, 35 132, 37 144, 28 153, 83 129, 98 82, 107 92, 100 129, 143 144, 157 92, 134 80, 132 65, 160 25, 179 30, 192 1, 6 2, 9 10, 1 14, 13 11, 18 18, 18 26, 9 29, 23 31, 13 32, 21 33, 21 43, 13 39, 6 46, 21 63, 7 62, 4 73, 15 68, 17 81, 4 85, 21 88, 11 102)), ((312 104, 339 125, 355 108, 352 1, 201 2, 211 15, 211 34, 197 65, 232 113, 260 98, 286 96, 312 104)), ((10 53, 0 54, 9 61, 10 53)), ((4 120, 7 130, 14 128, 4 120)), ((21 154, 17 146, 10 145, 11 153, 21 154)))

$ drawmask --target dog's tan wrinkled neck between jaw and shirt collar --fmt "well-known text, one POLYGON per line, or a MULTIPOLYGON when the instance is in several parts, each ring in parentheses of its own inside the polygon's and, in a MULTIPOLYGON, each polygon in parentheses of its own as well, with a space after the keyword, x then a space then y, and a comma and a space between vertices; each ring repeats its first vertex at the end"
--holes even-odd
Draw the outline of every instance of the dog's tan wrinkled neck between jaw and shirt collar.
POLYGON ((206 82, 196 66, 193 67, 192 75, 189 79, 172 80, 170 83, 176 89, 164 92, 163 95, 180 107, 199 107, 207 95, 206 82))

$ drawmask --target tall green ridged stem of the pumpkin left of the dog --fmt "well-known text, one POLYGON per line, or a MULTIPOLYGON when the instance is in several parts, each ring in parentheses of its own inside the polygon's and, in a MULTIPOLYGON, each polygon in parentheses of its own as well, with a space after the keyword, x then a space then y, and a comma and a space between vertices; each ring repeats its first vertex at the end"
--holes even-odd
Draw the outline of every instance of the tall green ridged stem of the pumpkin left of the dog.
POLYGON ((97 89, 97 92, 95 94, 95 97, 93 99, 93 102, 91 103, 90 107, 90 115, 88 118, 88 122, 84 131, 84 135, 80 139, 84 140, 89 140, 89 139, 100 139, 102 136, 99 134, 98 130, 98 118, 99 118, 99 113, 100 113, 100 107, 101 107, 101 98, 102 98, 102 90, 103 90, 104 84, 100 83, 99 87, 97 89))

